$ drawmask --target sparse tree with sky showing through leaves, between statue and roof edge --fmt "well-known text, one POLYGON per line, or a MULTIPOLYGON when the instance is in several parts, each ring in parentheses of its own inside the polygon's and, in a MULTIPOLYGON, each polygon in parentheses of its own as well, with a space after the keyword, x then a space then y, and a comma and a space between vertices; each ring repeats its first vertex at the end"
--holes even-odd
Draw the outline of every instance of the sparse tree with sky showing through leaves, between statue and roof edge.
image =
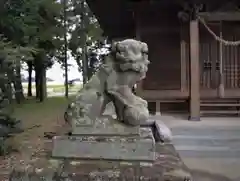
POLYGON ((70 6, 69 27, 73 28, 69 28, 69 48, 79 70, 82 71, 83 82, 86 83, 94 72, 93 65, 98 60, 94 50, 102 46, 99 42, 104 40, 103 31, 85 0, 72 0, 70 6))

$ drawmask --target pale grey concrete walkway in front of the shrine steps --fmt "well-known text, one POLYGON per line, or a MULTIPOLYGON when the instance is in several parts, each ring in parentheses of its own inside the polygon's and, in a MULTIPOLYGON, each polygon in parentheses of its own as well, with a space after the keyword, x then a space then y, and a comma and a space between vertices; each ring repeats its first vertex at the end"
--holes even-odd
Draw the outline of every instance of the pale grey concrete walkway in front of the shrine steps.
POLYGON ((240 117, 200 122, 174 115, 155 119, 171 128, 175 148, 196 181, 240 181, 240 117))

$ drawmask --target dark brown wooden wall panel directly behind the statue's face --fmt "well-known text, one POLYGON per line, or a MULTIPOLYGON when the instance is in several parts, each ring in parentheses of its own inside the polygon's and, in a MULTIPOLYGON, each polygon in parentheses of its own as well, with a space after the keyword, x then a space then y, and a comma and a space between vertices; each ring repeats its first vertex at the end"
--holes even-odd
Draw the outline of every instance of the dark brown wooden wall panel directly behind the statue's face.
POLYGON ((141 31, 141 40, 149 46, 149 71, 144 90, 181 89, 180 24, 163 24, 141 31), (156 28, 156 29, 155 29, 156 28), (154 30, 155 29, 155 30, 154 30))

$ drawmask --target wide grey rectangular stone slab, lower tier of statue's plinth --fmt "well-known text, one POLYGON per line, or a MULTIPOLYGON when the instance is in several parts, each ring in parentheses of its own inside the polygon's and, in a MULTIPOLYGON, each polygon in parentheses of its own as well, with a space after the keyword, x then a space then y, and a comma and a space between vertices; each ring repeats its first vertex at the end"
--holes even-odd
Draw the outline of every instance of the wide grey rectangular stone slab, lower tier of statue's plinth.
POLYGON ((154 161, 155 140, 150 128, 141 128, 140 136, 57 136, 53 139, 52 156, 154 161))

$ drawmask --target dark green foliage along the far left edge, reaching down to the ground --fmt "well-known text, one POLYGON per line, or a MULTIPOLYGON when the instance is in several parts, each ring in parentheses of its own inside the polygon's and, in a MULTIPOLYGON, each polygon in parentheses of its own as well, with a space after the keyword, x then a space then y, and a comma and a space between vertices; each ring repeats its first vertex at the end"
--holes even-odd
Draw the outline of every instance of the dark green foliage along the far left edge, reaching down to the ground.
MULTIPOLYGON (((7 147, 4 144, 5 138, 9 134, 22 132, 19 127, 20 121, 11 117, 12 109, 12 83, 15 78, 13 77, 13 69, 16 62, 22 57, 32 58, 35 50, 29 47, 21 47, 12 44, 5 39, 0 39, 0 155, 5 154, 7 147)), ((19 97, 15 92, 17 101, 19 97)))

